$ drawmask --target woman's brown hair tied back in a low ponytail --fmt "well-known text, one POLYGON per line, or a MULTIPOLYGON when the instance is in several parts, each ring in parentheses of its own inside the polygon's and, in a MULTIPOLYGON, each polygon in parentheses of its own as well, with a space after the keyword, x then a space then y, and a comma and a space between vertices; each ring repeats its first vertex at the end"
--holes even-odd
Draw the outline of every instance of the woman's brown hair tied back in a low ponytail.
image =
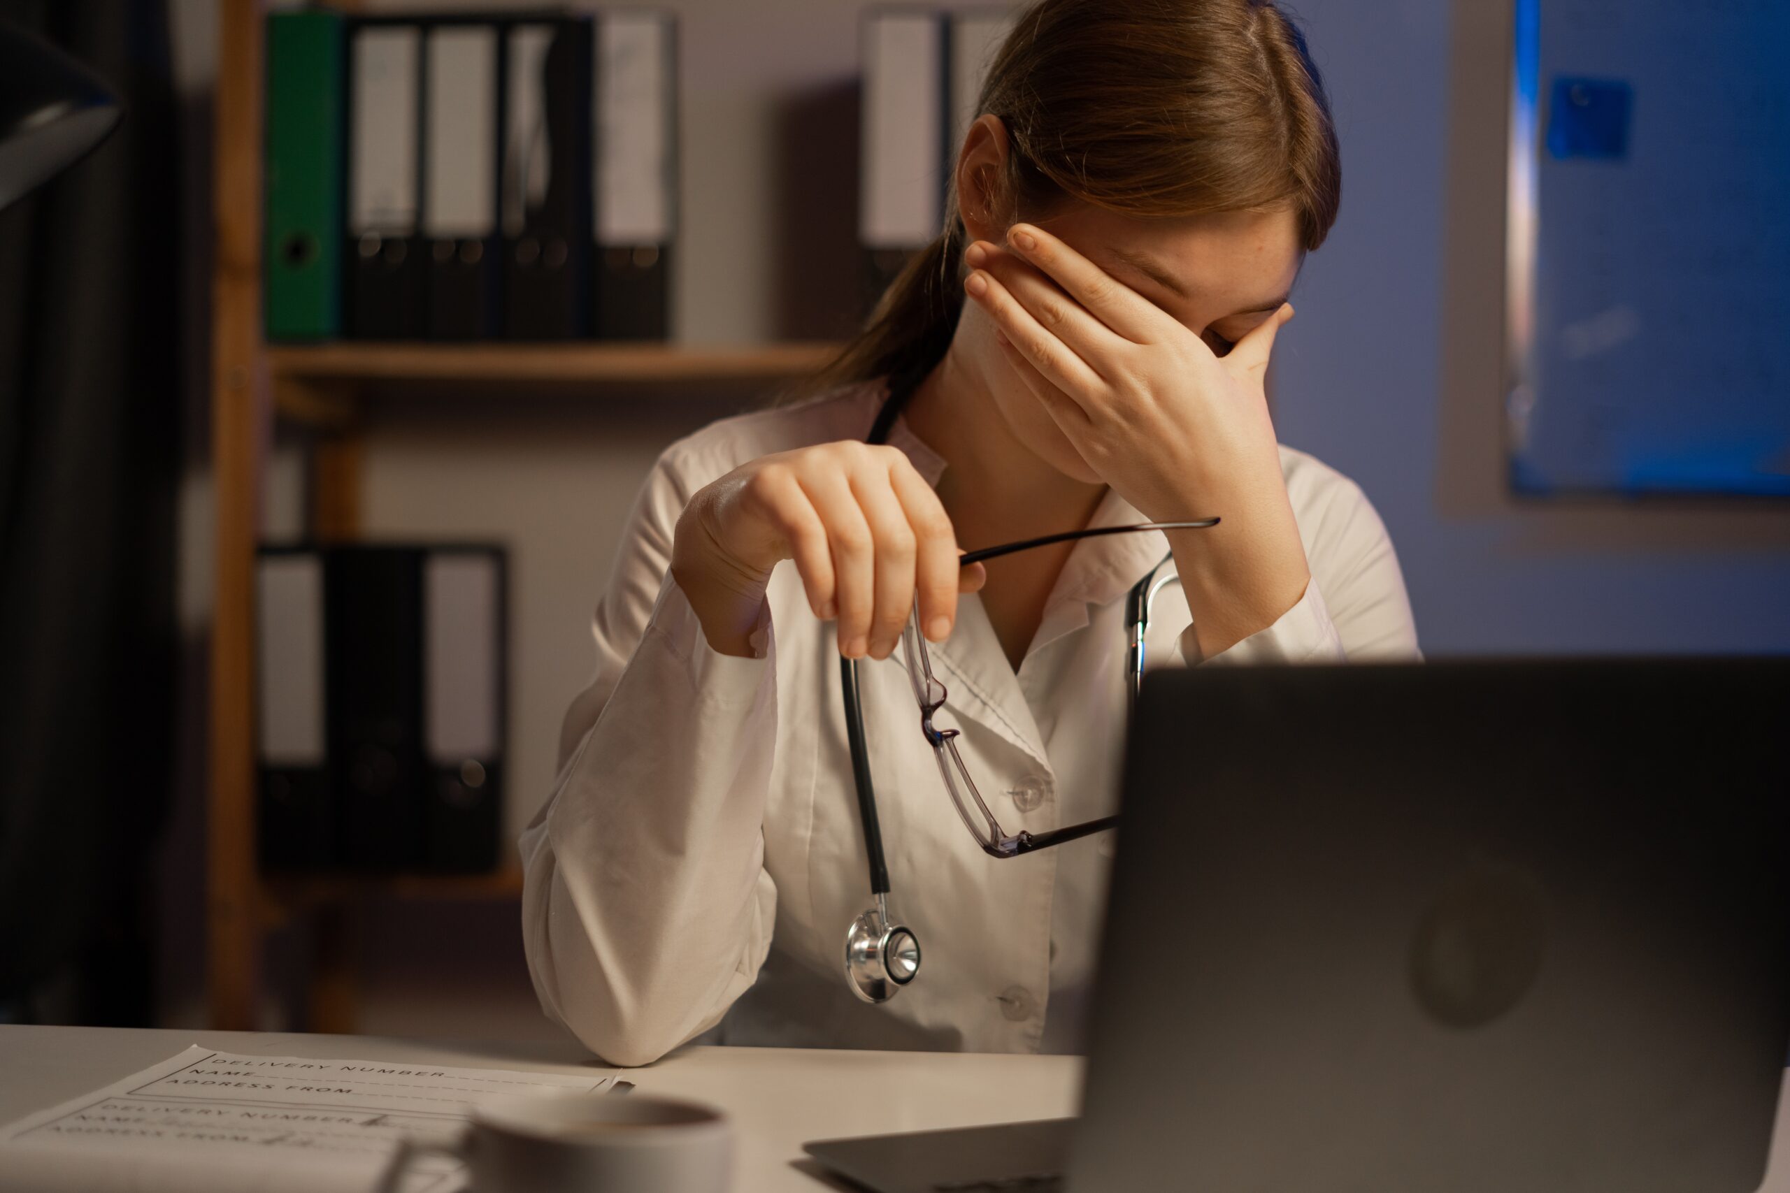
MULTIPOLYGON (((988 68, 983 113, 1008 131, 1001 193, 1015 220, 1069 200, 1140 216, 1285 204, 1307 250, 1335 222, 1330 102, 1273 0, 1038 0, 988 68)), ((963 311, 956 157, 945 213, 857 336, 791 397, 943 358, 963 311)))

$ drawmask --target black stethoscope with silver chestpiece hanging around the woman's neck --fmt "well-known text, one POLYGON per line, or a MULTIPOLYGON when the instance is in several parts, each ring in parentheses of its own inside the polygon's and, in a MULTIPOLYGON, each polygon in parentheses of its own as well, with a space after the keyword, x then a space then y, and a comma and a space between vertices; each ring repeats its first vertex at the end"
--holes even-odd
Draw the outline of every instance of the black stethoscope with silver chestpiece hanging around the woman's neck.
MULTIPOLYGON (((877 411, 866 444, 886 444, 902 406, 913 397, 929 370, 909 370, 890 383, 890 393, 877 411)), ((1126 596, 1126 690, 1137 699, 1144 683, 1144 635, 1156 594, 1180 576, 1164 574, 1171 556, 1164 556, 1126 596)), ((870 855, 870 893, 875 903, 845 930, 845 980, 865 1002, 888 1002, 920 973, 920 937, 890 914, 890 871, 882 857, 882 828, 877 821, 877 794, 870 782, 870 751, 865 746, 865 714, 857 687, 857 660, 840 658, 840 689, 845 699, 845 742, 852 753, 852 783, 857 787, 857 812, 865 826, 865 851, 870 855)))

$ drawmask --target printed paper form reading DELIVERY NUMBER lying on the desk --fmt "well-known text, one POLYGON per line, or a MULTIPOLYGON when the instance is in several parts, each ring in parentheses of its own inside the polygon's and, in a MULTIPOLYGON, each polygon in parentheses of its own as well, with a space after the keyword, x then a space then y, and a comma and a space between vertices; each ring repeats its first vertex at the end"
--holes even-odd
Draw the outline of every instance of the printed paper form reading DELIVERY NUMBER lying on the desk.
MULTIPOLYGON (((517 1093, 600 1093, 614 1070, 510 1070, 186 1052, 0 1129, 0 1188, 371 1189, 401 1138, 448 1141, 473 1104, 517 1093)), ((428 1157, 406 1193, 464 1188, 428 1157)))

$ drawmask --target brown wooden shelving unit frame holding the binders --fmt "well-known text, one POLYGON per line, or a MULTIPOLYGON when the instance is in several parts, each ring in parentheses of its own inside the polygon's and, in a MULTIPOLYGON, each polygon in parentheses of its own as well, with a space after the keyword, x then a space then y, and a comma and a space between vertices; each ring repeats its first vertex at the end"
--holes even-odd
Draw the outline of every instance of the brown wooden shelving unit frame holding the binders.
MULTIPOLYGON (((263 16, 265 0, 224 0, 213 104, 211 474, 215 485, 215 615, 209 655, 209 771, 206 807, 206 935, 209 1023, 258 1023, 277 982, 274 934, 308 941, 297 982, 299 1025, 351 1032, 360 1020, 372 941, 362 928, 381 903, 494 903, 521 898, 514 860, 487 875, 297 875, 263 871, 256 850, 254 558, 265 533, 272 424, 297 424, 303 538, 353 542, 367 531, 367 417, 390 397, 412 413, 446 411, 456 426, 526 422, 553 395, 592 411, 700 410, 691 399, 761 401, 829 363, 825 340, 682 345, 659 342, 439 343, 263 340, 263 16), (419 406, 415 406, 419 404, 419 406), (480 420, 490 420, 483 424, 480 420), (471 422, 469 422, 471 420, 471 422)), ((342 7, 356 7, 344 4, 342 7)), ((847 234, 848 241, 848 234, 847 234)), ((804 243, 811 245, 809 236, 804 243)), ((831 324, 829 324, 831 327, 831 324)), ((832 334, 818 331, 818 334, 832 334)), ((494 436, 501 438, 501 436, 494 436)), ((483 445, 483 444, 482 444, 483 445)), ((592 474, 603 470, 592 461, 592 474)), ((537 783, 535 789, 541 789, 537 783)), ((507 850, 514 857, 514 850, 507 850)), ((501 909, 499 909, 501 910, 501 909)))

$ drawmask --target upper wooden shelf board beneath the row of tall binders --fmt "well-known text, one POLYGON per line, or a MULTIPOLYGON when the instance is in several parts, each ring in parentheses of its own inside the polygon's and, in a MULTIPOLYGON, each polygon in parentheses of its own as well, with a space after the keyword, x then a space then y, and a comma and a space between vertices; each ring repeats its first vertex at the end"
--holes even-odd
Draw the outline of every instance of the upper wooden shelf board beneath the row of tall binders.
POLYGON ((274 377, 310 383, 779 381, 818 370, 841 345, 319 343, 267 349, 274 377))

